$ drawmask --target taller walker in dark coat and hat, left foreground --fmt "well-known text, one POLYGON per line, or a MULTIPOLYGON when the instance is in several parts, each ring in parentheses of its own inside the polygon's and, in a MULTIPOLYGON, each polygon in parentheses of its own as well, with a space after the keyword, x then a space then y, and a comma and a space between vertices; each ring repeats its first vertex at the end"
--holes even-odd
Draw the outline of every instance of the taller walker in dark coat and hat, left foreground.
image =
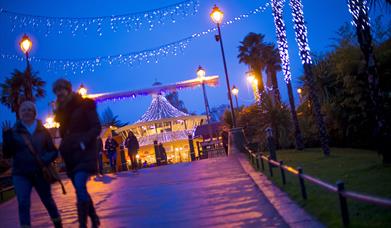
POLYGON ((53 84, 57 96, 55 120, 60 123, 60 153, 66 172, 77 196, 77 212, 80 227, 87 226, 87 215, 92 226, 100 225, 91 196, 87 190, 89 177, 97 172, 97 143, 101 131, 96 104, 72 92, 68 80, 58 79, 53 84))

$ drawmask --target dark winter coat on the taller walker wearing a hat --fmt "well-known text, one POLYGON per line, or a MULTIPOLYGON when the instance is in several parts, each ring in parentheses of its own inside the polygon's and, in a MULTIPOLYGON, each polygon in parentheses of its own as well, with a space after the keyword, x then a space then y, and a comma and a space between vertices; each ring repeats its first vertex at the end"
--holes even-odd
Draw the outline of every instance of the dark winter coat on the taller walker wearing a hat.
POLYGON ((60 153, 68 176, 72 177, 77 171, 96 173, 96 140, 101 125, 95 102, 72 94, 71 100, 60 105, 55 115, 55 120, 60 123, 60 153))

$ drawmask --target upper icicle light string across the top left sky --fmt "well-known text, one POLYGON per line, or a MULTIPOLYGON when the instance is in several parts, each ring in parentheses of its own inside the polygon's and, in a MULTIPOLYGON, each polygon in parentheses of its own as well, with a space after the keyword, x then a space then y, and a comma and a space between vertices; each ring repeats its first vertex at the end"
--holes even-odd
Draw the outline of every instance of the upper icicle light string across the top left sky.
POLYGON ((103 34, 103 28, 109 27, 111 31, 125 30, 127 32, 147 28, 154 29, 166 23, 175 23, 179 18, 194 15, 198 12, 198 0, 186 0, 177 4, 121 15, 99 17, 49 17, 31 14, 23 14, 2 9, 1 15, 8 17, 12 23, 11 31, 19 29, 31 29, 33 31, 49 34, 63 34, 71 32, 73 36, 96 29, 99 36, 103 34))

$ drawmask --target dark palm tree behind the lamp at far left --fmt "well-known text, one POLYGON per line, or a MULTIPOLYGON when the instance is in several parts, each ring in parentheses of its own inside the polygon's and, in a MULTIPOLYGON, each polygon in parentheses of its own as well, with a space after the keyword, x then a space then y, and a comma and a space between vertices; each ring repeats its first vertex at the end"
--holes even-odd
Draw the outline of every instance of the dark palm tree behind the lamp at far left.
POLYGON ((1 103, 15 112, 16 118, 19 118, 20 103, 24 100, 35 101, 44 97, 45 84, 46 82, 37 75, 37 72, 32 72, 30 67, 27 67, 25 72, 15 69, 11 76, 5 78, 5 81, 0 84, 1 103))

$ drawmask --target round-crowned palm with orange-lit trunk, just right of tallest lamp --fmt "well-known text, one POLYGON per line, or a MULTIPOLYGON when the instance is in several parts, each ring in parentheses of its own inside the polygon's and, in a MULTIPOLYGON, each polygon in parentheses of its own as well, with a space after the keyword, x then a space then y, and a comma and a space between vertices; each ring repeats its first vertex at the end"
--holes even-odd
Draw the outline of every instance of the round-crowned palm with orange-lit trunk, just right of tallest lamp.
POLYGON ((254 71, 255 78, 258 80, 258 91, 262 94, 265 87, 262 79, 262 70, 265 68, 263 53, 267 44, 264 42, 265 36, 250 32, 240 41, 239 63, 247 64, 254 71))

